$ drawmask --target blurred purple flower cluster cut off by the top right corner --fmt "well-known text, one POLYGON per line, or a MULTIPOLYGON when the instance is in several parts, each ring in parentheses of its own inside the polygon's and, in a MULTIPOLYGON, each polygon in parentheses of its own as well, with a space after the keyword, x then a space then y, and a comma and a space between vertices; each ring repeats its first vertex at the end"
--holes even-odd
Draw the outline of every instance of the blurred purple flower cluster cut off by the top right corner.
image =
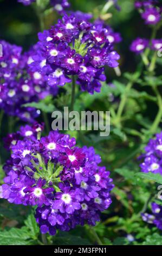
POLYGON ((162 4, 158 0, 136 1, 135 8, 137 8, 142 19, 147 25, 155 25, 161 21, 162 4))

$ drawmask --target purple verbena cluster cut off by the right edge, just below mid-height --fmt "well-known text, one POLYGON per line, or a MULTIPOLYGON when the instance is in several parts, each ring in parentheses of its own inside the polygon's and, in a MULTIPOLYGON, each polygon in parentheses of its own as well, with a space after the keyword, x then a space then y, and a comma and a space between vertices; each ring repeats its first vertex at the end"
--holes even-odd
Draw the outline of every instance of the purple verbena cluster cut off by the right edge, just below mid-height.
POLYGON ((155 139, 150 139, 145 147, 145 154, 142 154, 139 159, 141 171, 148 173, 162 174, 162 132, 157 134, 155 139))

